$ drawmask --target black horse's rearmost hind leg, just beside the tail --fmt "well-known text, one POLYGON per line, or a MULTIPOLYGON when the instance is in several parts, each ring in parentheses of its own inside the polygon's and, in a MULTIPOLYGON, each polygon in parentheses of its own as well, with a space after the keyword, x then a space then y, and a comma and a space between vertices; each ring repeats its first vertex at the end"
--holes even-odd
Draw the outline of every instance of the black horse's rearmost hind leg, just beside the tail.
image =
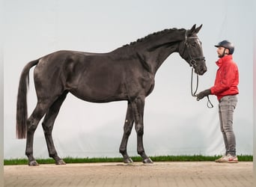
POLYGON ((40 119, 46 113, 49 105, 49 101, 37 101, 36 108, 34 108, 34 111, 27 120, 27 142, 25 148, 25 155, 28 156, 28 165, 31 166, 38 165, 33 156, 34 131, 37 129, 37 125, 40 119))

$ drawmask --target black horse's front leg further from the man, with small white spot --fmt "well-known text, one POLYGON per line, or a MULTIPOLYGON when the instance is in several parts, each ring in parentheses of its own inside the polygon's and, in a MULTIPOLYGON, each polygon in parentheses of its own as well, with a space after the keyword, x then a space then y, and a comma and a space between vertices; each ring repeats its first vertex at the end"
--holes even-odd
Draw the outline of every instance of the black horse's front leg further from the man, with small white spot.
POLYGON ((129 135, 132 132, 133 123, 134 123, 134 120, 133 120, 133 116, 132 116, 132 106, 128 102, 127 116, 126 116, 125 122, 124 122, 124 135, 123 135, 121 145, 119 148, 119 152, 124 157, 124 163, 127 163, 127 164, 132 163, 132 159, 127 154, 127 142, 129 139, 129 135))

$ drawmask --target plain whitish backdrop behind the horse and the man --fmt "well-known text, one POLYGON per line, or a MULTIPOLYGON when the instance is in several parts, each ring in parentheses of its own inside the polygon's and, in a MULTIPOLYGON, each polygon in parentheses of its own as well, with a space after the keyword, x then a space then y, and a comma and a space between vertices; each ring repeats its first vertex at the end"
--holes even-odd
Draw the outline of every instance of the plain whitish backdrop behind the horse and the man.
MULTIPOLYGON (((16 94, 19 75, 28 61, 59 49, 110 52, 126 43, 165 28, 203 24, 208 71, 200 76, 199 91, 213 85, 220 40, 235 45, 240 70, 240 94, 234 114, 237 154, 252 155, 253 0, 197 1, 4 1, 4 159, 25 158, 25 140, 16 139, 16 94), (184 6, 186 4, 186 6, 184 6)), ((36 95, 31 70, 28 113, 36 95)), ((156 74, 156 86, 146 99, 144 148, 149 156, 219 155, 224 153, 219 129, 218 102, 210 96, 198 102, 190 95, 191 69, 178 54, 171 55, 156 74)), ((55 121, 53 138, 61 157, 121 156, 127 102, 95 104, 69 94, 55 121)), ((136 155, 135 130, 128 153, 136 155)), ((34 156, 47 158, 39 125, 34 156)))

